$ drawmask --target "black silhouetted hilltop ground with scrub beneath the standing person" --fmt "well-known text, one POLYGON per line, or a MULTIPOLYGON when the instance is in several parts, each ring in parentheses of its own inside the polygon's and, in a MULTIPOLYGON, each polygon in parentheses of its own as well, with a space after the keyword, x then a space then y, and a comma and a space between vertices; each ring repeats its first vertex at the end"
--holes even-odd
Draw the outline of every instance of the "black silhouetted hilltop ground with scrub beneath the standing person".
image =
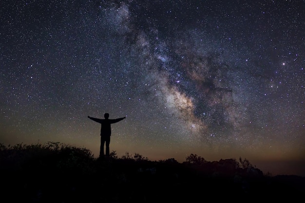
POLYGON ((79 148, 30 151, 1 150, 2 203, 300 202, 305 195, 304 177, 267 176, 234 159, 178 163, 94 159, 79 148))

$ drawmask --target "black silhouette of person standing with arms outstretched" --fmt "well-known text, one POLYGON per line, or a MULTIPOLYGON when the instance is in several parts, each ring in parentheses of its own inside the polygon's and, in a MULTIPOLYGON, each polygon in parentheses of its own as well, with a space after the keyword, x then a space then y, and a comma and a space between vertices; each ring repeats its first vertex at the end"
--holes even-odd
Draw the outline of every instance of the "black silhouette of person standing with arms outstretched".
POLYGON ((104 156, 104 145, 106 143, 106 156, 109 157, 109 144, 110 144, 110 136, 111 136, 111 124, 117 123, 126 117, 123 118, 116 118, 116 119, 109 119, 109 113, 104 114, 105 119, 93 118, 88 115, 88 118, 94 120, 97 123, 101 124, 100 129, 100 150, 99 150, 99 157, 104 156))

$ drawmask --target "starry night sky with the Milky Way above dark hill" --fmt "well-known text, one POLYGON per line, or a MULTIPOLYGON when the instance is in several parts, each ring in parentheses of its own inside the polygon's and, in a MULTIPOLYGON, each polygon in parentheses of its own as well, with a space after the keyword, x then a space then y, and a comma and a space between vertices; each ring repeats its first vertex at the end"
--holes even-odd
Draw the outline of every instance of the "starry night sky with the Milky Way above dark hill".
POLYGON ((1 0, 0 143, 305 175, 304 0, 1 0))

